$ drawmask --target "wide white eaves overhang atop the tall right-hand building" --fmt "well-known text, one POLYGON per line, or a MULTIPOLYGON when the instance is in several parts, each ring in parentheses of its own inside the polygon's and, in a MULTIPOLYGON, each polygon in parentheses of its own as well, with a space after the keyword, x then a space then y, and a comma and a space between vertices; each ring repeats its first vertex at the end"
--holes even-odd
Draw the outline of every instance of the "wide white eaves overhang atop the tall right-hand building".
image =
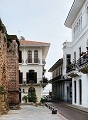
POLYGON ((68 28, 72 27, 72 23, 74 22, 77 14, 79 13, 80 9, 82 8, 84 2, 86 0, 74 0, 71 9, 67 15, 64 25, 68 28))

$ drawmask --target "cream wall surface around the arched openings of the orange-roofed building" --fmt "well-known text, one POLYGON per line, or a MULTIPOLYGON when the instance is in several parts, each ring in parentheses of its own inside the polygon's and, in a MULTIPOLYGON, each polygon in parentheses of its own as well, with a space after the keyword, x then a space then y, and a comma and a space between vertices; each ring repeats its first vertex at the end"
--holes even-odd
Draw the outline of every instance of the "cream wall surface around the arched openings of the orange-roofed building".
MULTIPOLYGON (((26 81, 26 72, 28 72, 29 70, 35 70, 35 72, 37 72, 37 83, 40 83, 39 81, 42 80, 42 48, 40 47, 20 47, 20 50, 22 51, 22 59, 23 59, 23 63, 19 64, 19 70, 21 72, 23 72, 23 80, 26 81), (31 50, 32 51, 32 58, 34 58, 34 50, 38 50, 38 58, 40 60, 40 63, 26 63, 27 60, 27 51, 31 50)), ((24 95, 28 95, 28 89, 31 86, 20 86, 21 91, 23 91, 23 89, 25 89, 25 92, 21 93, 21 99, 24 95)), ((41 97, 42 97, 42 87, 40 85, 35 85, 33 86, 36 90, 36 95, 38 97, 38 102, 40 101, 41 97)), ((22 101, 23 102, 23 101, 22 101)))

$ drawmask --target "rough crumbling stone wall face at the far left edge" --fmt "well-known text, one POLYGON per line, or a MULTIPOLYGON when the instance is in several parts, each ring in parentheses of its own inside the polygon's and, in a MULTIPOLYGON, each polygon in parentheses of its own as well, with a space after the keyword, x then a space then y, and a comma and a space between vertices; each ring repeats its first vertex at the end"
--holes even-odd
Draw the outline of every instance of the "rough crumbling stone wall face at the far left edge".
POLYGON ((0 112, 7 113, 8 96, 8 71, 7 71, 7 38, 0 31, 0 112))

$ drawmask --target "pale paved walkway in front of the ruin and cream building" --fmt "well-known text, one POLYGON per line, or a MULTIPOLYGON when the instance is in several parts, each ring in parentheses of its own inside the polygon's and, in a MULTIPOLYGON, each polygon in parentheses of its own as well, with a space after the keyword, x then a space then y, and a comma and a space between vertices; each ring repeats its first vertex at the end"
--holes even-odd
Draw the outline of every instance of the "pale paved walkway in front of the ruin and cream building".
POLYGON ((10 110, 7 115, 1 115, 0 120, 67 120, 59 113, 52 114, 52 111, 45 106, 35 107, 33 105, 21 105, 20 110, 10 110))

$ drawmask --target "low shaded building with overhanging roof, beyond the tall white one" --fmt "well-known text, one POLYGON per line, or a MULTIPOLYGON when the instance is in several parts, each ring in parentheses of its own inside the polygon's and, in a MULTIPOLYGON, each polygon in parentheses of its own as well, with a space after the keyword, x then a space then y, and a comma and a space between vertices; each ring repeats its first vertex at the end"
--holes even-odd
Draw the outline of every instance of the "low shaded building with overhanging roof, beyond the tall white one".
POLYGON ((72 102, 72 80, 63 76, 63 59, 59 59, 50 69, 52 72, 52 101, 72 102))

